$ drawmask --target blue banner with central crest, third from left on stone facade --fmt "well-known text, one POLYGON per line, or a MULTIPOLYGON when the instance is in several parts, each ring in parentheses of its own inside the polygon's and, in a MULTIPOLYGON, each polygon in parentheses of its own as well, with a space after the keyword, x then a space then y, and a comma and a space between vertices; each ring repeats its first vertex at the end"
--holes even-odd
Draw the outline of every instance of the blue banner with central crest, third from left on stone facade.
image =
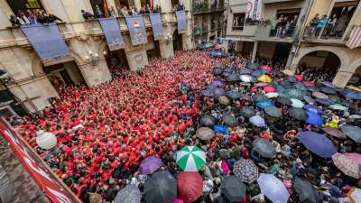
POLYGON ((142 15, 128 15, 125 20, 134 45, 148 42, 142 15))

